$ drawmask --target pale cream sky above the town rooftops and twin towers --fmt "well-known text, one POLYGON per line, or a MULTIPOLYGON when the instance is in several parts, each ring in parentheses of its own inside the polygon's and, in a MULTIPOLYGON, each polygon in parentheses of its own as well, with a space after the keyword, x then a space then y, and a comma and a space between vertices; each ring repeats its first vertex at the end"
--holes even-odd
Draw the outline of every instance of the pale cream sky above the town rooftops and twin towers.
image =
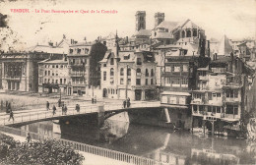
MULTIPOLYGON (((148 29, 154 27, 155 13, 162 12, 165 21, 190 19, 205 29, 208 39, 221 39, 224 34, 231 39, 256 36, 256 0, 0 0, 0 13, 8 16, 13 37, 26 46, 49 40, 55 43, 63 34, 78 41, 85 37, 92 41, 116 30, 119 36, 131 36, 135 31, 136 11, 146 11, 148 29), (13 13, 11 9, 29 9, 30 13, 13 13), (41 9, 78 13, 41 13, 41 9), (82 14, 82 10, 99 13, 82 14), (103 14, 101 10, 117 13, 103 14)), ((0 28, 1 32, 8 29, 0 28)))

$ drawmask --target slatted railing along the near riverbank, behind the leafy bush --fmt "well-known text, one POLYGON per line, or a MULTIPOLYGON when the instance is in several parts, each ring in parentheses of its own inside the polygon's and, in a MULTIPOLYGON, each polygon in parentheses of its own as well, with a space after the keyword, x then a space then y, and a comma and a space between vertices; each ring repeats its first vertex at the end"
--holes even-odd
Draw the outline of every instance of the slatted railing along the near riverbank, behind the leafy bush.
MULTIPOLYGON (((21 137, 26 137, 29 133, 24 130, 15 129, 15 128, 11 128, 11 127, 5 127, 5 126, 0 126, 0 131, 3 133, 9 133, 9 134, 21 136, 21 137)), ((31 132, 30 132, 30 135, 32 137, 32 140, 40 140, 41 141, 44 139, 52 138, 52 137, 47 137, 45 135, 31 133, 31 132)), ((69 145, 70 147, 72 147, 76 150, 79 150, 79 151, 95 154, 98 156, 114 159, 117 161, 131 163, 131 164, 135 164, 135 165, 164 165, 165 164, 165 163, 162 163, 157 160, 140 157, 140 156, 136 156, 133 154, 124 153, 124 152, 119 152, 119 151, 115 151, 115 150, 111 150, 111 149, 101 148, 98 146, 89 145, 89 144, 76 142, 76 141, 72 141, 72 140, 67 140, 67 139, 63 139, 63 138, 59 138, 56 140, 58 140, 61 144, 69 145)))

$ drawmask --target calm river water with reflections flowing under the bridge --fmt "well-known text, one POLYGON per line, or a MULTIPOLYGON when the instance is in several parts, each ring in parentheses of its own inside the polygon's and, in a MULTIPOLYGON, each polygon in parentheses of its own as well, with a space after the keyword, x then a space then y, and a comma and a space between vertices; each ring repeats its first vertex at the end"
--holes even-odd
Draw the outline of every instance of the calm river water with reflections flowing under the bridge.
POLYGON ((188 132, 107 120, 45 121, 22 126, 37 134, 65 138, 156 159, 169 164, 256 164, 256 143, 239 138, 204 138, 188 132), (57 123, 57 124, 56 124, 57 123))

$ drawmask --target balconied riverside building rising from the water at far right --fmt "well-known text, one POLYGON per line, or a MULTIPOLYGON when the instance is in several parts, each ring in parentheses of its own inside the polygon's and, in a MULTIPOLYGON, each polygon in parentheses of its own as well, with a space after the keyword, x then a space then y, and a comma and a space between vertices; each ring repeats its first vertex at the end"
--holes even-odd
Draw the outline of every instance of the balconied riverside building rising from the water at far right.
MULTIPOLYGON (((227 38, 225 38, 227 40, 227 38)), ((203 127, 222 133, 242 131, 241 123, 248 111, 247 92, 253 71, 230 51, 229 45, 220 45, 219 52, 208 67, 197 72, 197 89, 192 91, 193 127, 203 127)))

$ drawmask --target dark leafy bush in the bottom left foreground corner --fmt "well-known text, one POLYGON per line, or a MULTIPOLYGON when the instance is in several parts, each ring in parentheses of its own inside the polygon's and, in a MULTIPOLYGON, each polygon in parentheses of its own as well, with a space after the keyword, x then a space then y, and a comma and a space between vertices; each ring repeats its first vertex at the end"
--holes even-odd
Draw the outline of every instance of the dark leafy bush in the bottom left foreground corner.
POLYGON ((20 142, 4 138, 0 145, 0 164, 82 164, 85 159, 69 145, 58 140, 20 142))

